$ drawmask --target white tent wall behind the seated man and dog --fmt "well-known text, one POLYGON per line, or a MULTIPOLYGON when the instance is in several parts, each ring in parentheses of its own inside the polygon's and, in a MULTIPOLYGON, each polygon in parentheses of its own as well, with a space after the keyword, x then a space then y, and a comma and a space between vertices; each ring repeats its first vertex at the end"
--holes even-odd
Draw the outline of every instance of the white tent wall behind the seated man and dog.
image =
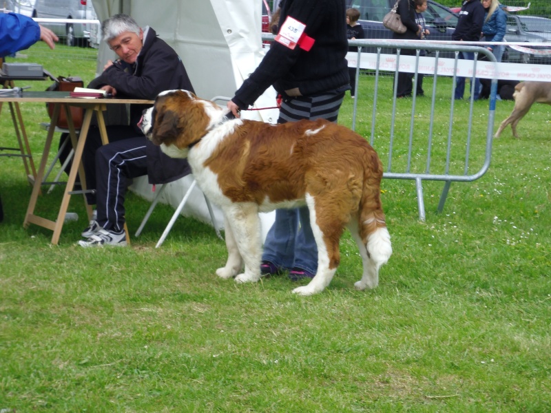
MULTIPOLYGON (((258 66, 264 56, 261 33, 261 0, 92 0, 98 19, 125 13, 141 27, 151 26, 182 58, 195 92, 202 98, 232 97, 236 89, 258 66)), ((96 72, 103 70, 115 54, 101 42, 96 72)), ((275 106, 270 88, 256 102, 258 107, 275 106)), ((277 109, 242 112, 243 118, 275 123, 277 109)), ((191 176, 171 182, 160 202, 177 207, 191 184, 191 176)), ((154 198, 147 177, 134 180, 131 189, 148 200, 154 198)), ((214 207, 217 224, 223 226, 214 207)), ((203 195, 194 189, 182 215, 210 223, 203 195)), ((261 214, 262 238, 273 222, 273 213, 261 214)))

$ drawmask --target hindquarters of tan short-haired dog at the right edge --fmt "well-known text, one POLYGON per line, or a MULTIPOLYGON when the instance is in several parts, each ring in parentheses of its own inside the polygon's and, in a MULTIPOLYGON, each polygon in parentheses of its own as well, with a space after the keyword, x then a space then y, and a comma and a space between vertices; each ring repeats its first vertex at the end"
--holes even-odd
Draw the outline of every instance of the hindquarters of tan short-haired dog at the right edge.
POLYGON ((551 105, 551 82, 521 82, 514 87, 514 108, 506 120, 501 122, 494 138, 499 138, 501 131, 511 124, 512 136, 518 138, 517 124, 528 113, 534 102, 551 105))

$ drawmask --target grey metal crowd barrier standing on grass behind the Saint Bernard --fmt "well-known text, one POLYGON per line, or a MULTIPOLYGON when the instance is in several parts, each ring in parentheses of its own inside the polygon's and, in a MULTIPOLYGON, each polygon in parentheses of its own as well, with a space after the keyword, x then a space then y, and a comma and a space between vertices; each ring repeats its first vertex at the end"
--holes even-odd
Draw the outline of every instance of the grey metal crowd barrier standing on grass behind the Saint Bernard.
MULTIPOLYGON (((402 180, 415 180, 417 190, 417 205, 419 209, 419 220, 425 220, 425 207, 424 207, 424 195, 423 195, 423 180, 444 181, 444 189, 441 192, 438 211, 441 212, 444 209, 444 204, 450 189, 451 182, 472 182, 477 180, 488 171, 490 166, 490 158, 492 153, 492 135, 493 124, 495 118, 495 105, 497 99, 497 77, 492 76, 491 80, 491 92, 489 97, 488 107, 488 122, 485 125, 486 129, 486 142, 484 145, 484 160, 479 162, 477 171, 470 172, 470 158, 473 147, 473 116, 475 115, 475 74, 477 73, 477 65, 479 61, 477 57, 486 56, 486 59, 491 64, 495 64, 495 56, 492 52, 489 52, 484 47, 479 46, 459 46, 459 45, 435 45, 427 44, 424 41, 417 42, 398 42, 398 41, 351 41, 351 45, 358 46, 357 58, 356 58, 356 87, 358 85, 360 67, 362 67, 362 58, 366 54, 362 54, 362 48, 370 47, 373 50, 377 50, 376 54, 370 54, 371 57, 371 72, 375 76, 374 88, 373 88, 373 105, 371 108, 371 129, 369 131, 369 140, 371 145, 380 152, 381 158, 385 163, 385 159, 382 153, 387 154, 386 165, 384 171, 384 178, 389 179, 402 179, 402 180), (382 54, 382 49, 394 50, 395 54, 382 54), (402 53, 403 50, 415 50, 415 56, 406 56, 402 53), (434 56, 426 57, 420 56, 421 50, 428 50, 433 52, 434 56), (475 59, 467 61, 459 59, 459 52, 472 52, 475 54, 475 59), (441 54, 446 56, 453 56, 453 59, 441 58, 441 54), (405 62, 404 62, 405 61, 405 62), (404 63, 402 63, 404 62, 404 63), (441 63, 445 62, 446 65, 441 63), (463 66, 463 70, 458 70, 459 66, 463 66), (382 70, 382 68, 384 69, 382 70), (391 105, 391 119, 389 136, 377 137, 376 139, 376 127, 377 123, 387 122, 387 119, 381 118, 380 106, 382 100, 388 100, 390 96, 380 94, 380 83, 382 81, 382 72, 388 71, 389 67, 393 68, 393 92, 392 92, 392 105, 391 105), (420 70, 421 69, 421 70, 420 70), (447 69, 447 70, 445 70, 447 69), (397 98, 397 80, 398 73, 410 72, 413 75, 413 96, 411 99, 406 99, 410 103, 410 112, 408 117, 399 116, 404 110, 402 105, 402 99, 397 98), (468 116, 465 117, 464 111, 455 111, 454 91, 457 83, 457 73, 470 72, 470 99, 468 106, 468 116), (424 73, 422 73, 424 72, 424 73), (441 72, 444 72, 442 74, 441 72), (446 73, 447 72, 447 73, 446 73), (417 122, 419 114, 417 114, 417 96, 416 85, 419 81, 419 76, 432 76, 432 92, 430 96, 430 115, 428 116, 428 123, 417 122), (446 97, 442 97, 442 94, 437 92, 441 88, 439 78, 447 78, 448 90, 450 94, 447 102, 446 97), (451 82, 449 81, 451 79, 451 82), (447 111, 447 125, 446 121, 442 121, 444 112, 447 111), (457 119, 457 116, 460 118, 457 119), (407 120, 408 118, 408 120, 407 120), (454 129, 454 123, 459 120, 461 127, 459 133, 457 128, 454 129), (439 134, 435 135, 435 128, 437 127, 435 122, 439 122, 439 134), (442 134, 442 123, 446 126, 444 133, 442 134), (408 126, 408 134, 405 136, 399 131, 403 131, 403 127, 408 126), (419 132, 419 130, 421 130, 419 132), (419 135, 424 135, 424 138, 419 138, 419 135), (444 150, 435 151, 435 145, 444 145, 444 150), (458 147, 463 147, 459 150, 458 147), (383 150, 381 150, 383 149, 383 150), (405 159, 404 159, 405 157, 405 159), (438 158, 438 159, 437 159, 438 158), (462 170, 457 169, 457 164, 461 163, 462 170), (454 166, 454 167, 453 167, 454 166)), ((349 54, 350 56, 350 54, 349 54)), ((486 62, 488 63, 488 62, 486 62)), ((349 59, 349 65, 351 65, 351 59, 349 59)), ((364 65, 370 67, 370 65, 364 65)), ((496 73, 497 71, 495 71, 496 73)), ((425 105, 426 106, 426 105, 425 105)), ((479 107, 477 107, 479 110, 479 107)), ((363 108, 362 108, 363 109, 363 108)), ((406 107, 407 109, 407 107, 406 107)), ((356 121, 358 116, 358 99, 354 101, 352 129, 356 129, 356 121)), ((479 112, 477 112, 477 116, 479 112)), ((384 116, 384 114, 382 115, 384 116)), ((477 134, 479 136, 479 134, 477 134)), ((479 145, 477 146, 477 152, 480 151, 479 145)))

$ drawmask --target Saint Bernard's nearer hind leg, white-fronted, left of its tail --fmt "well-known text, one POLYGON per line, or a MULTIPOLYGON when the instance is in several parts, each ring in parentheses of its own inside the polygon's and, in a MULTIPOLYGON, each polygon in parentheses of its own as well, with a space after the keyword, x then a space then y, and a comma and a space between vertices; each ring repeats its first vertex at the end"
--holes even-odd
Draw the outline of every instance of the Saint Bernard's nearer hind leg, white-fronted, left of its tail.
MULTIPOLYGON (((320 205, 329 205, 328 209, 333 207, 333 200, 329 198, 318 201, 320 205)), ((320 293, 329 286, 339 266, 339 240, 344 229, 344 222, 340 217, 331 216, 329 211, 326 213, 321 207, 316 209, 314 198, 308 193, 306 193, 306 204, 310 211, 310 225, 315 244, 318 246, 318 272, 308 285, 293 290, 293 293, 299 295, 320 293)))

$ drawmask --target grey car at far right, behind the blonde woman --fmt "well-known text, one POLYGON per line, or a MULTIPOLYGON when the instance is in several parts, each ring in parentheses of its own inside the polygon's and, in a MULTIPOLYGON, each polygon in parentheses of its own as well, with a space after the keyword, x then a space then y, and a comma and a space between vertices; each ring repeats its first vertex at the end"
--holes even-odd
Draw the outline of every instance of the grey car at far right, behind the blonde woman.
MULTIPOLYGON (((530 46, 530 48, 551 50, 551 19, 509 14, 505 39, 509 42, 546 43, 542 47, 530 46)), ((502 60, 504 62, 551 64, 551 56, 549 55, 523 53, 514 50, 512 47, 506 47, 502 60)))

